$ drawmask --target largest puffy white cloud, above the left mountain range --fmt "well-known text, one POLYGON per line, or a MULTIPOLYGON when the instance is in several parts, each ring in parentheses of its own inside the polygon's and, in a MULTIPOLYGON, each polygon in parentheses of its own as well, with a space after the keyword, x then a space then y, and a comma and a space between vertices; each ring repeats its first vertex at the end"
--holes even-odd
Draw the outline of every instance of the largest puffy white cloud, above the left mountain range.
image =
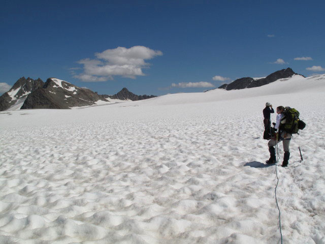
POLYGON ((136 76, 144 76, 142 69, 150 66, 145 60, 160 55, 163 52, 144 46, 107 49, 95 53, 95 59, 79 60, 78 63, 83 65, 83 73, 75 74, 74 77, 82 81, 107 81, 113 79, 113 76, 135 79, 136 76))

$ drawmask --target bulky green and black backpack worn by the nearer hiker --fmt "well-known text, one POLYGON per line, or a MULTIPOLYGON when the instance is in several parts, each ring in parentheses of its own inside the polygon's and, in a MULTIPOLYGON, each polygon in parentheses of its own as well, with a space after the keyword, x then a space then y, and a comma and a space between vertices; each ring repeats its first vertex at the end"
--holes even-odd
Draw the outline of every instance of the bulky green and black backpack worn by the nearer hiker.
POLYGON ((290 134, 299 134, 299 130, 303 130, 306 127, 304 121, 299 119, 299 115, 300 113, 297 109, 287 107, 281 119, 283 123, 280 123, 280 130, 290 134))

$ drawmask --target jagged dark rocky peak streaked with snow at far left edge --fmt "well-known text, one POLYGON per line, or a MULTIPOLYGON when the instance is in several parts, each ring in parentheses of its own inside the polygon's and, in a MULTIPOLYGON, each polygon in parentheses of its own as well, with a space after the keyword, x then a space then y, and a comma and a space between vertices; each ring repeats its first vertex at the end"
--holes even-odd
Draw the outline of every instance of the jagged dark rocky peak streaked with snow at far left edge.
POLYGON ((0 111, 4 111, 15 105, 20 99, 26 98, 30 93, 42 87, 44 82, 38 78, 33 80, 31 78, 21 77, 11 87, 11 89, 0 97, 0 111))

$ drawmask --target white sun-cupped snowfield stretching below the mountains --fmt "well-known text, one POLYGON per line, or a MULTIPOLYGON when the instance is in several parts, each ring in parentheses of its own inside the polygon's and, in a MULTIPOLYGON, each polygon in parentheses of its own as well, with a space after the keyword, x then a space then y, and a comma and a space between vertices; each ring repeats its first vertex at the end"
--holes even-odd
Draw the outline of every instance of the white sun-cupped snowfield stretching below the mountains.
POLYGON ((283 243, 325 243, 324 92, 324 75, 296 76, 2 112, 0 243, 281 243, 276 169, 283 243), (265 163, 266 102, 307 123, 287 168, 265 163))

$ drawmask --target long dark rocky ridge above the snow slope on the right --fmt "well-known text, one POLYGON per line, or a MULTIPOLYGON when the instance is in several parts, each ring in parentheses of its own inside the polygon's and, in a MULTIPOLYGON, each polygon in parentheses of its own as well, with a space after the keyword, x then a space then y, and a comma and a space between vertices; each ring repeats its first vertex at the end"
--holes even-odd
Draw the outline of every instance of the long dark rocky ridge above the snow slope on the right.
POLYGON ((284 78, 291 77, 293 75, 298 75, 298 74, 295 73, 292 69, 287 68, 287 69, 276 71, 276 72, 268 75, 265 78, 256 79, 256 80, 254 80, 251 77, 240 78, 240 79, 233 81, 230 84, 223 84, 223 85, 219 86, 218 88, 226 89, 226 90, 233 90, 233 89, 244 89, 244 88, 258 87, 258 86, 269 84, 269 83, 274 82, 278 79, 284 79, 284 78))

